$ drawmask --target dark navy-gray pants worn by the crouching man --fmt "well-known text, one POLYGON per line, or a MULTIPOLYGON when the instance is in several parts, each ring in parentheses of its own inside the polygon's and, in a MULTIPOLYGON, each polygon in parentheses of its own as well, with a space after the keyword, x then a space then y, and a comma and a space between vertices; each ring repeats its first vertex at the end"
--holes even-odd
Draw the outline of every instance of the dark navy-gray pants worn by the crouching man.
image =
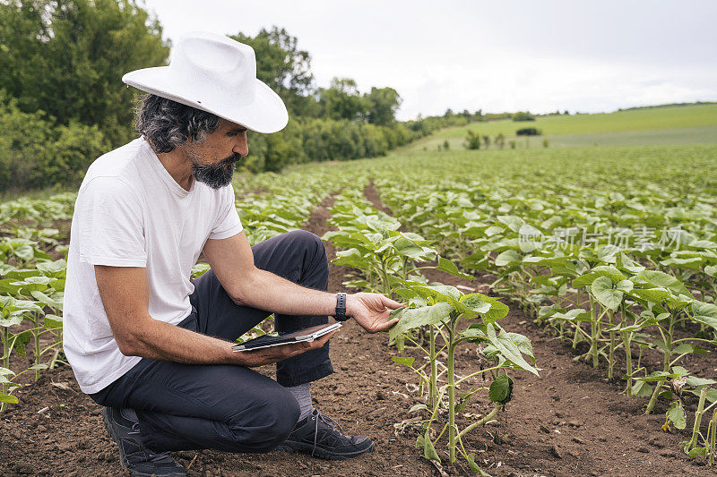
MULTIPOLYGON (((324 244, 315 234, 289 232, 257 243, 252 251, 258 268, 308 288, 325 290, 328 285, 324 244)), ((190 301, 192 313, 178 326, 230 341, 270 314, 232 302, 211 270, 194 280, 190 301)), ((275 328, 290 332, 326 322, 326 316, 278 315, 275 328)), ((134 409, 145 445, 157 452, 268 452, 289 436, 298 420, 298 403, 283 387, 331 374, 329 344, 276 367, 274 381, 242 366, 143 358, 90 396, 99 405, 134 409)))

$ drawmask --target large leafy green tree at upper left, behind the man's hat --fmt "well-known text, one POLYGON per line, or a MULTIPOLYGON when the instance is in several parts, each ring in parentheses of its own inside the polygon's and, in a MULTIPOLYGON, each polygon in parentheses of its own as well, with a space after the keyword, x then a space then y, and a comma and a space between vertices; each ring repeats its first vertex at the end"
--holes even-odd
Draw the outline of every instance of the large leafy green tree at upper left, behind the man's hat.
POLYGON ((0 3, 0 84, 26 113, 97 124, 112 144, 132 137, 136 94, 125 72, 165 64, 160 23, 134 0, 0 3))

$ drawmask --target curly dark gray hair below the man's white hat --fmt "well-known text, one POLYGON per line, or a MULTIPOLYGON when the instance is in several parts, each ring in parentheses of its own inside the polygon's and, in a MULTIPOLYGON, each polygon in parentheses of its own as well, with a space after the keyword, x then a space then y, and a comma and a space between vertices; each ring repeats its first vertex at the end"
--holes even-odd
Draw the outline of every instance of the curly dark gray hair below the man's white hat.
POLYGON ((134 113, 134 129, 155 152, 171 152, 186 141, 202 142, 220 124, 217 115, 153 94, 141 97, 134 113))

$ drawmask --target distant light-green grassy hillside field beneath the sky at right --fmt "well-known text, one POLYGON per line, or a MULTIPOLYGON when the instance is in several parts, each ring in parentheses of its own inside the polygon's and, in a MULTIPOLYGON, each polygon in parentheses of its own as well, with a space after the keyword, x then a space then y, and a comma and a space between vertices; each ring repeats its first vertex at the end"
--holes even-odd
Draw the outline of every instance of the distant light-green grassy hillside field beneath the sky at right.
MULTIPOLYGON (((664 106, 635 109, 596 115, 554 115, 539 117, 535 121, 511 120, 488 123, 471 123, 436 132, 410 149, 436 149, 446 139, 451 149, 462 149, 462 142, 470 129, 491 138, 503 133, 514 138, 515 131, 523 127, 536 127, 542 137, 531 138, 529 146, 542 144, 547 137, 551 147, 695 144, 717 142, 717 105, 664 106)), ((525 147, 525 138, 517 140, 525 147)), ((509 147, 506 141, 505 147, 509 147)))

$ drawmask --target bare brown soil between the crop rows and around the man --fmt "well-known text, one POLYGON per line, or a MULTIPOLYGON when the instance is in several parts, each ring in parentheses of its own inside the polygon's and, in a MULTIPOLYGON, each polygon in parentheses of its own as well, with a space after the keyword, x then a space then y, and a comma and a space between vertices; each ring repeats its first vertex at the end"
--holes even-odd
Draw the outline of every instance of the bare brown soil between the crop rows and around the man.
MULTIPOLYGON (((370 198, 380 205, 375 190, 370 198)), ((321 235, 329 229, 327 208, 332 203, 332 199, 324 200, 309 218, 307 230, 321 235)), ((326 248, 333 258, 331 245, 326 244, 326 248)), ((331 266, 330 290, 342 289, 346 272, 346 268, 331 266)), ((488 292, 488 277, 469 281, 433 271, 429 278, 488 292)), ((604 370, 575 362, 569 345, 535 327, 517 303, 504 302, 511 311, 501 324, 531 338, 541 371, 540 378, 514 372, 514 397, 505 413, 486 428, 474 430, 466 440, 466 447, 477 453, 476 460, 483 469, 505 476, 713 472, 679 449, 687 431, 667 434, 660 430, 664 407, 655 415, 644 416, 646 398, 623 396, 622 385, 604 379, 604 370)), ((175 454, 178 462, 188 467, 189 475, 440 475, 414 447, 416 431, 395 425, 415 417, 408 410, 422 400, 411 392, 417 382, 415 375, 391 362, 394 350, 386 342, 385 335, 368 335, 352 321, 347 322, 333 339, 336 373, 312 386, 315 405, 348 433, 374 439, 375 452, 349 461, 327 462, 281 452, 234 455, 185 451, 175 454)), ((407 355, 419 356, 410 351, 407 355)), ((459 356, 459 375, 478 370, 474 348, 465 346, 459 356)), ((706 356, 710 355, 697 358, 706 356)), ((270 367, 266 372, 272 374, 270 367)), ((21 405, 11 405, 0 415, 0 474, 121 474, 117 447, 105 433, 99 406, 82 395, 68 367, 44 373, 39 382, 15 395, 21 405)), ((481 396, 463 413, 485 413, 485 401, 481 396)), ((459 425, 467 422, 462 417, 459 425)), ((443 471, 467 474, 465 464, 444 466, 443 471)))

